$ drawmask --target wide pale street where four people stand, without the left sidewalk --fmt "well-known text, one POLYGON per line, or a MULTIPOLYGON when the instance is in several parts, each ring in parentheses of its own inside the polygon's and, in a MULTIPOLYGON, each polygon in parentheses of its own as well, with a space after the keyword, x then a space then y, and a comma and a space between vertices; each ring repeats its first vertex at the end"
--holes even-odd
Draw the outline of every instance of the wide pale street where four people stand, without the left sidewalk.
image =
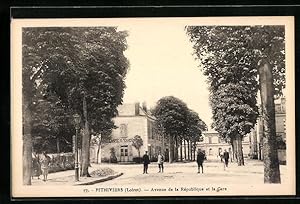
MULTIPOLYGON (((113 165, 101 164, 110 167, 124 175, 116 179, 95 184, 96 186, 113 185, 145 185, 157 184, 263 184, 263 163, 257 160, 245 160, 245 166, 229 163, 224 171, 221 162, 204 163, 204 173, 197 173, 196 162, 190 163, 165 163, 164 173, 158 173, 156 163, 149 165, 148 174, 143 174, 143 165, 113 165)), ((282 183, 286 182, 286 166, 280 166, 282 183)))

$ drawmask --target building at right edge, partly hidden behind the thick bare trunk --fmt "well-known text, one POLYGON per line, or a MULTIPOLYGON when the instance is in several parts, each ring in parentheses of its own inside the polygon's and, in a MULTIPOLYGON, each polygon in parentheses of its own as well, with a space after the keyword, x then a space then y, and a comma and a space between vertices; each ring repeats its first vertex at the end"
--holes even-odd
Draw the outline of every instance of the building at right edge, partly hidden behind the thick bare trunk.
MULTIPOLYGON (((285 132, 285 121, 286 121, 286 100, 284 97, 275 100, 275 125, 276 135, 281 137, 286 142, 285 132)), ((250 133, 250 155, 254 159, 263 159, 262 154, 262 138, 263 138, 263 123, 261 114, 257 119, 257 123, 250 133)), ((280 151, 279 159, 285 160, 285 151, 280 151)))

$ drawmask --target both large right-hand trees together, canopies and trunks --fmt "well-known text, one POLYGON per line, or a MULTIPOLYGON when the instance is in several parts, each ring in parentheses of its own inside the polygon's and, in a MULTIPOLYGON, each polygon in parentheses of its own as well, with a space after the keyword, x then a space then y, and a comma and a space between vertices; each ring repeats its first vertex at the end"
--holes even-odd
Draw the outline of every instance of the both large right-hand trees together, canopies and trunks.
POLYGON ((241 139, 256 123, 260 90, 264 180, 279 183, 274 96, 285 87, 284 26, 188 26, 186 31, 208 77, 213 127, 232 144, 239 165, 241 139))

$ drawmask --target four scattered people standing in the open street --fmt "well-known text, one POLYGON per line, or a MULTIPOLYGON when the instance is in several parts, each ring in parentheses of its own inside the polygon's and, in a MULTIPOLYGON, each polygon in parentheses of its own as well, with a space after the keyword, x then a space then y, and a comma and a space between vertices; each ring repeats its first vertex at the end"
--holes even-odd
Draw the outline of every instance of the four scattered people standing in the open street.
MULTIPOLYGON (((227 150, 224 150, 224 153, 220 155, 221 161, 224 161, 224 170, 228 168, 228 162, 229 162, 229 152, 227 150)), ((200 168, 201 172, 203 173, 203 162, 206 159, 205 152, 201 149, 198 149, 197 152, 197 159, 196 162, 198 164, 198 173, 200 173, 200 168)), ((145 154, 143 156, 143 164, 144 164, 144 171, 143 174, 148 174, 148 165, 150 164, 150 158, 148 156, 148 152, 145 151, 145 154)), ((157 164, 158 164, 158 173, 163 173, 164 172, 164 157, 161 154, 161 152, 158 153, 157 156, 157 164)))

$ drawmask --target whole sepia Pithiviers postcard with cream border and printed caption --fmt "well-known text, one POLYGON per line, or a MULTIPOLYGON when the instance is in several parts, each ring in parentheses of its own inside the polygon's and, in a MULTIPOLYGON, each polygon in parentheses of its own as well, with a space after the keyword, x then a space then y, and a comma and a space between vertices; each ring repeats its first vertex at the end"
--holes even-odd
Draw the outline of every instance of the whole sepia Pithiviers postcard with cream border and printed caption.
POLYGON ((13 197, 295 195, 293 17, 11 30, 13 197))

